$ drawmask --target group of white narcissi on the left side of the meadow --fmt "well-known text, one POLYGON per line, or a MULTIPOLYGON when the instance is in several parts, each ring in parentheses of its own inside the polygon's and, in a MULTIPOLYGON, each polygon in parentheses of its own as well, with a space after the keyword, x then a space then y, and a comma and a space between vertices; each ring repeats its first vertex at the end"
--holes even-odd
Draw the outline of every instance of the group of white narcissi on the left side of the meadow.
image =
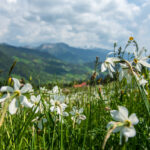
MULTIPOLYGON (((33 119, 33 122, 37 122, 37 126, 39 129, 43 128, 43 123, 47 122, 47 119, 44 115, 44 109, 49 109, 49 111, 53 115, 54 121, 62 121, 64 117, 69 116, 69 113, 66 112, 66 108, 68 107, 65 103, 65 96, 62 93, 62 90, 55 86, 52 90, 48 90, 45 87, 40 88, 40 94, 34 94, 34 90, 32 85, 27 83, 21 85, 20 81, 16 78, 12 78, 12 86, 2 86, 0 88, 0 93, 2 93, 2 97, 0 98, 0 104, 9 102, 9 113, 14 115, 19 113, 17 110, 23 110, 24 107, 32 109, 32 111, 36 114, 36 118, 33 119), (45 96, 46 94, 46 96, 45 96), (43 116, 41 118, 41 116, 43 116)), ((75 111, 73 107, 73 111, 75 111)), ((86 117, 82 117, 80 113, 83 113, 83 109, 78 112, 78 117, 76 116, 76 121, 81 123, 81 120, 85 120, 86 117)), ((70 113, 72 117, 75 117, 73 113, 70 113)), ((71 119, 72 119, 71 117, 71 119)), ((74 119, 72 119, 74 122, 74 119)), ((64 121, 62 121, 63 123, 64 121)))

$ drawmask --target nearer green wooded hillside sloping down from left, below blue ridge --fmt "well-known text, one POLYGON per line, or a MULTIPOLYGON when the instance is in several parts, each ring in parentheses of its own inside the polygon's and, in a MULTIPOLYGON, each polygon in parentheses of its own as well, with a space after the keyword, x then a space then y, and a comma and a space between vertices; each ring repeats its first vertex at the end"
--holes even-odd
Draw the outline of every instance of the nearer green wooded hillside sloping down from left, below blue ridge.
POLYGON ((48 52, 33 51, 28 48, 0 44, 0 79, 7 78, 10 66, 17 64, 12 75, 34 82, 51 82, 54 80, 80 80, 86 78, 91 68, 84 64, 70 64, 59 60, 48 52))

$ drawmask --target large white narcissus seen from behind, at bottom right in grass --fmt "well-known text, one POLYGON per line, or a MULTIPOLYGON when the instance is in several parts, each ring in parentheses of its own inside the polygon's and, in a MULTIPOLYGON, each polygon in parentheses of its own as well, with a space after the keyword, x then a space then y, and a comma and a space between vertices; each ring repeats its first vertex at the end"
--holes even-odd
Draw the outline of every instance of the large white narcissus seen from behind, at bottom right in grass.
POLYGON ((116 123, 118 126, 113 130, 113 132, 120 132, 120 144, 122 144, 122 136, 125 136, 126 142, 129 137, 134 137, 136 135, 136 130, 134 125, 138 124, 139 120, 135 113, 129 113, 126 107, 118 106, 119 110, 112 110, 110 114, 112 118, 117 121, 111 121, 107 124, 107 128, 113 127, 116 123))

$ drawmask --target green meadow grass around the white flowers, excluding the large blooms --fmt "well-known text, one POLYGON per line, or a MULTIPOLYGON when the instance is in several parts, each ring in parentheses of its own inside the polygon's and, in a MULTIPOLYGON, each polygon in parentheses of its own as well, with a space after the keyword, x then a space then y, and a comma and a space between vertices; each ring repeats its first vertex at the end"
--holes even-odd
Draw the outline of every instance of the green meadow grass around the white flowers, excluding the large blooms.
MULTIPOLYGON (((150 119, 136 87, 125 87, 124 83, 116 81, 104 86, 69 88, 67 94, 60 91, 55 99, 63 99, 68 112, 68 116, 62 115, 61 119, 57 112, 50 110, 50 99, 54 99, 54 93, 48 91, 34 92, 41 95, 42 103, 38 103, 37 107, 42 105, 43 109, 38 113, 25 107, 20 107, 14 115, 6 112, 0 128, 0 149, 101 149, 108 131, 106 125, 112 120, 110 110, 118 109, 117 106, 125 106, 130 114, 136 113, 139 119, 135 126, 136 136, 125 143, 126 149, 150 148, 150 119), (101 92, 98 92, 99 87, 101 92), (86 119, 80 124, 71 119, 69 112, 73 106, 83 108, 86 119), (42 118, 46 118, 47 122, 40 129, 38 122, 42 118)), ((31 101, 29 94, 26 96, 31 101)), ((3 108, 1 105, 1 114, 3 108)), ((112 133, 108 139, 106 149, 111 148, 121 149, 119 133, 112 133)))

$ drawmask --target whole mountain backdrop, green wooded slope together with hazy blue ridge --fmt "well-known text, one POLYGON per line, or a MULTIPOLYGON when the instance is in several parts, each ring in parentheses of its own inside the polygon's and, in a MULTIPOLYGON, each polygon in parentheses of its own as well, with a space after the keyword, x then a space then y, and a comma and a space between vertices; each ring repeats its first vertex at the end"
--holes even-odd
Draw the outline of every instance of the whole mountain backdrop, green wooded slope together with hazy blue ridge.
POLYGON ((0 44, 0 79, 7 78, 14 61, 12 76, 47 83, 87 79, 94 69, 96 56, 104 61, 105 49, 81 49, 65 43, 41 44, 37 47, 17 47, 0 44))

